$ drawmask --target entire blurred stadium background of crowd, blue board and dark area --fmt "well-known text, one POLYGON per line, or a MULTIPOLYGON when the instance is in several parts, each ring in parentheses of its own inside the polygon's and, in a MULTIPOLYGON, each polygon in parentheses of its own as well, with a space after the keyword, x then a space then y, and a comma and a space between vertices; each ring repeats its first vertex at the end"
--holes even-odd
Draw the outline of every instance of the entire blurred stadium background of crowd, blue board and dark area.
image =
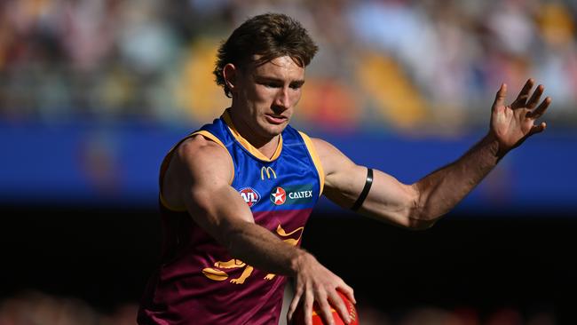
POLYGON ((217 44, 262 12, 320 45, 294 124, 405 182, 486 132, 500 83, 546 85, 549 130, 436 226, 321 202, 304 247, 356 289, 364 324, 570 323, 574 2, 6 0, 0 324, 134 323, 160 246, 158 165, 227 107, 217 44))

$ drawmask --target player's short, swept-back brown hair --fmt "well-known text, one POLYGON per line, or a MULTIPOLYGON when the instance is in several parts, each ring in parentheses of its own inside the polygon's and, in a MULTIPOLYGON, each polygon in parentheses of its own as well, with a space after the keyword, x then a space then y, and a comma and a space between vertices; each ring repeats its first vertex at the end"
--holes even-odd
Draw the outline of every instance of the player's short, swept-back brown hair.
POLYGON ((259 58, 252 63, 259 66, 289 56, 299 67, 306 67, 318 49, 298 21, 281 13, 265 13, 243 22, 220 45, 213 74, 217 77, 217 84, 224 87, 225 95, 231 97, 223 76, 226 64, 243 67, 258 55, 259 58))

